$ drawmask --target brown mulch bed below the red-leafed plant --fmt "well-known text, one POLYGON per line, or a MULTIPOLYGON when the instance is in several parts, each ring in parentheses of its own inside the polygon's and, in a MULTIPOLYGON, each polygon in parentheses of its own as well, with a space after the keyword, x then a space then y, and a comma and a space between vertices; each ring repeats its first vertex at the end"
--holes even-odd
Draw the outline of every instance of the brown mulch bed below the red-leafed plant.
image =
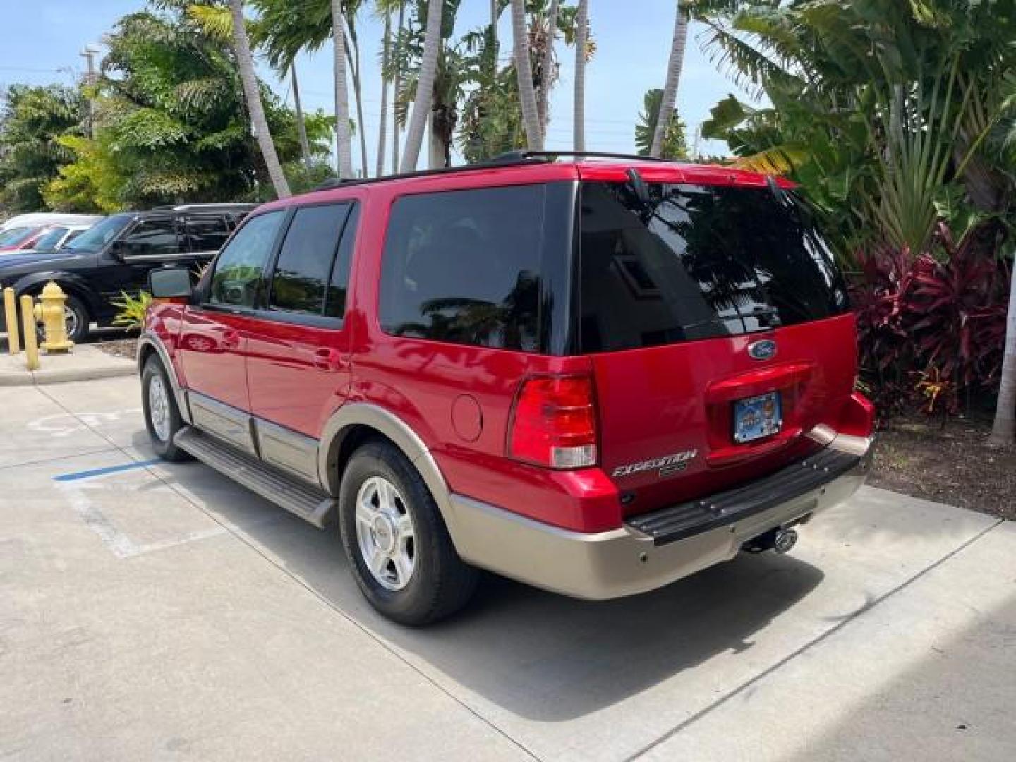
POLYGON ((991 424, 900 417, 886 422, 868 484, 1016 519, 1016 449, 986 443, 991 424))

